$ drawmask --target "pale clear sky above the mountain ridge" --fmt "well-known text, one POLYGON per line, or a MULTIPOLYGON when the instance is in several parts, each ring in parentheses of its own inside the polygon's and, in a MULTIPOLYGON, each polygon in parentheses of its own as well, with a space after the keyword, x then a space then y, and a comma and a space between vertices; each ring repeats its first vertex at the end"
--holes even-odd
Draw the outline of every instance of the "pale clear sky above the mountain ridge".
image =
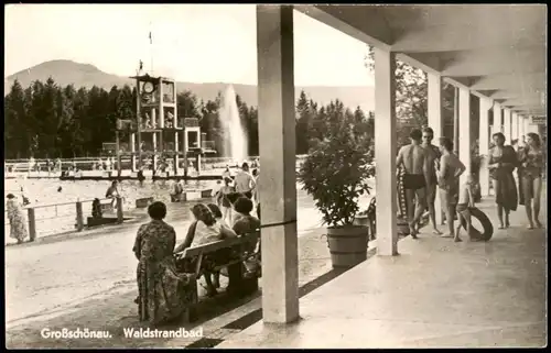
MULTIPOLYGON (((179 81, 257 84, 255 4, 9 4, 4 12, 4 77, 52 59, 130 76, 141 59, 179 81)), ((372 86, 366 54, 364 43, 294 11, 298 86, 372 86)))

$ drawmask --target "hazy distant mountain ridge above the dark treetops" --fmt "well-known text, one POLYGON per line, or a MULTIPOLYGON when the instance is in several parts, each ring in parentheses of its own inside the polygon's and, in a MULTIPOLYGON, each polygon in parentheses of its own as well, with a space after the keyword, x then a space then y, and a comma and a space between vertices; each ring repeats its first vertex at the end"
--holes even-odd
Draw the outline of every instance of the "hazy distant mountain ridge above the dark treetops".
MULTIPOLYGON (((132 76, 132 75, 129 75, 132 76)), ((21 85, 26 88, 34 80, 45 81, 52 77, 56 84, 62 86, 75 85, 76 88, 94 85, 110 89, 112 86, 133 86, 133 80, 123 77, 111 75, 101 71, 94 65, 79 64, 72 60, 51 60, 30 67, 13 74, 4 79, 4 95, 10 91, 13 81, 18 79, 21 85)), ((193 82, 176 82, 177 91, 191 90, 198 99, 214 99, 218 91, 224 91, 227 84, 193 84, 193 82)), ((242 100, 249 106, 257 106, 257 87, 252 85, 234 84, 236 92, 241 96, 242 100)), ((374 87, 329 87, 329 86, 307 86, 296 87, 295 95, 300 95, 301 90, 314 101, 325 104, 331 100, 338 98, 345 107, 355 109, 360 106, 365 111, 375 109, 375 91, 374 87)))

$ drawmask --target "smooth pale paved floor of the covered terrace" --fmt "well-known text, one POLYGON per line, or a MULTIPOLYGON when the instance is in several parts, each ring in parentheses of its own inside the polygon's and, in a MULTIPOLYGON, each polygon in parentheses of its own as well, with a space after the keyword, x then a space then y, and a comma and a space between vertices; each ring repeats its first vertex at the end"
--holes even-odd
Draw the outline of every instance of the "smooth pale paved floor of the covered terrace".
MULTIPOLYGON (((478 208, 497 223, 493 200, 478 208)), ((523 207, 511 224, 487 243, 407 238, 400 255, 374 256, 304 296, 296 323, 260 321, 216 348, 545 346, 547 229, 527 230, 523 207)))

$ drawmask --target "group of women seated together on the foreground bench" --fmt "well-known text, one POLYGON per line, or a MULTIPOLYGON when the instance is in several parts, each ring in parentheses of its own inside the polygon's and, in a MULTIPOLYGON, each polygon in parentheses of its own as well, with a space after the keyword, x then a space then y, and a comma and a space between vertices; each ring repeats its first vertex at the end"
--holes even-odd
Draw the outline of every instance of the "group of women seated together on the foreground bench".
MULTIPOLYGON (((250 214, 252 201, 245 195, 230 196, 231 208, 236 216, 233 223, 223 219, 223 212, 215 203, 198 203, 191 209, 194 221, 187 230, 184 241, 176 246, 176 232, 173 227, 163 221, 166 206, 153 202, 148 212, 151 221, 138 230, 133 252, 138 258, 139 306, 140 320, 153 324, 179 318, 190 305, 192 298, 186 286, 195 280, 190 274, 194 272, 196 260, 181 258, 188 247, 217 242, 257 232, 260 220, 250 214)), ((248 252, 255 253, 259 242, 250 244, 248 252)), ((203 258, 203 268, 224 266, 236 255, 233 249, 222 249, 203 258)), ((228 294, 237 294, 241 278, 260 275, 260 258, 251 257, 244 262, 229 265, 222 274, 228 276, 228 294)), ((204 274, 208 296, 217 294, 220 287, 219 272, 204 274)))

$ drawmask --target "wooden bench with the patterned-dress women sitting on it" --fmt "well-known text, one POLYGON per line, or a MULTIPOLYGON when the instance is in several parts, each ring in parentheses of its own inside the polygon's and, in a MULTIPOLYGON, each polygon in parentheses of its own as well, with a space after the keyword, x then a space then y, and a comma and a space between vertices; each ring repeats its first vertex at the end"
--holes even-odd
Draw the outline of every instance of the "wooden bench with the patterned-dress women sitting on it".
MULTIPOLYGON (((260 240, 260 231, 240 235, 238 238, 231 238, 222 240, 214 243, 208 243, 199 246, 187 247, 183 252, 174 254, 176 261, 184 261, 188 258, 190 261, 195 261, 195 268, 193 269, 193 278, 195 279, 195 285, 191 286, 191 290, 193 290, 192 298, 193 301, 190 306, 190 310, 186 313, 186 320, 193 321, 195 319, 195 309, 198 305, 198 286, 197 282, 201 279, 203 275, 209 275, 210 273, 219 272, 222 268, 227 267, 229 265, 242 263, 249 260, 258 260, 260 255, 260 250, 250 251, 251 245, 259 245, 260 240), (239 256, 235 256, 225 264, 218 264, 210 268, 205 268, 203 260, 205 256, 214 254, 215 252, 223 249, 233 249, 236 250, 239 256), (195 260, 196 258, 196 260, 195 260)), ((258 290, 258 276, 253 276, 252 278, 242 278, 242 283, 239 286, 240 289, 247 291, 246 294, 258 290)), ((245 294, 245 293, 244 293, 245 294)))

